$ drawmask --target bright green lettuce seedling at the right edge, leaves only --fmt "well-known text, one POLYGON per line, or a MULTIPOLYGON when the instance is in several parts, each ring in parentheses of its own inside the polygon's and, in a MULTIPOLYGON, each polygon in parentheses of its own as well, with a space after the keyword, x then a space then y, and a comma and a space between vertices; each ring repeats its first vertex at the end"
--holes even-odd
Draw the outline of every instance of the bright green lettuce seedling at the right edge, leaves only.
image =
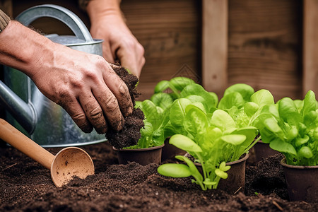
POLYGON ((302 101, 283 98, 267 105, 257 124, 262 141, 283 153, 289 165, 318 165, 317 109, 312 90, 302 101))

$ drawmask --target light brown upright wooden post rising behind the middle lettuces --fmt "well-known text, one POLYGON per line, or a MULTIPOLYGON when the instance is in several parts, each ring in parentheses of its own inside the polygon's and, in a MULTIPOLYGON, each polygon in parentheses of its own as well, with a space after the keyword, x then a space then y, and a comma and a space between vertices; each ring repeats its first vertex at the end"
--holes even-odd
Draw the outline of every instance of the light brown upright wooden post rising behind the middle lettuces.
POLYGON ((221 97, 228 84, 228 0, 204 0, 202 16, 202 82, 221 97))

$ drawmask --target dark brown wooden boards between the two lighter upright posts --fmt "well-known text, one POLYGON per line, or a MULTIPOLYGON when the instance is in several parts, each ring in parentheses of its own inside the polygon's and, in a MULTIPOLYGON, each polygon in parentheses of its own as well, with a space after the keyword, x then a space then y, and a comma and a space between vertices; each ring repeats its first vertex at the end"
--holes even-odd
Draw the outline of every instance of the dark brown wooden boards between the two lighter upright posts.
POLYGON ((229 0, 228 83, 302 98, 302 1, 229 0))

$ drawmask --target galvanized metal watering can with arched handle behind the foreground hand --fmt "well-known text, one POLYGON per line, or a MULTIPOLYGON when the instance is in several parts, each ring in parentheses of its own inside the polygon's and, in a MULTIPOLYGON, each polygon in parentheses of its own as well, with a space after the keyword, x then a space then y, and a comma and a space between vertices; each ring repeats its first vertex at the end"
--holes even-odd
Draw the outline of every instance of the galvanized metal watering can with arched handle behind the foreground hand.
MULTIPOLYGON (((47 35, 53 42, 90 54, 102 55, 102 40, 93 40, 86 25, 68 9, 52 4, 28 8, 16 18, 29 25, 41 17, 61 20, 74 33, 47 35)), ((95 130, 85 134, 59 105, 42 95, 24 73, 4 67, 0 81, 0 104, 6 108, 6 120, 43 147, 81 146, 106 141, 95 130)))

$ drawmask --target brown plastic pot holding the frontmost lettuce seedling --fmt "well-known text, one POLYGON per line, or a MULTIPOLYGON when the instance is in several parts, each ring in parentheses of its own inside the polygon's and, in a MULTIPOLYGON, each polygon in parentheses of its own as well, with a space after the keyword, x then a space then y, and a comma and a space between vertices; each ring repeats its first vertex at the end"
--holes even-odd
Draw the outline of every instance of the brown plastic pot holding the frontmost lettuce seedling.
MULTIPOLYGON (((249 154, 242 155, 239 160, 226 163, 231 168, 228 170, 228 178, 220 179, 218 183, 218 189, 221 189, 228 194, 236 194, 237 192, 243 192, 245 190, 245 164, 249 158, 249 154)), ((199 172, 202 174, 202 166, 200 163, 194 163, 198 167, 199 172)))

